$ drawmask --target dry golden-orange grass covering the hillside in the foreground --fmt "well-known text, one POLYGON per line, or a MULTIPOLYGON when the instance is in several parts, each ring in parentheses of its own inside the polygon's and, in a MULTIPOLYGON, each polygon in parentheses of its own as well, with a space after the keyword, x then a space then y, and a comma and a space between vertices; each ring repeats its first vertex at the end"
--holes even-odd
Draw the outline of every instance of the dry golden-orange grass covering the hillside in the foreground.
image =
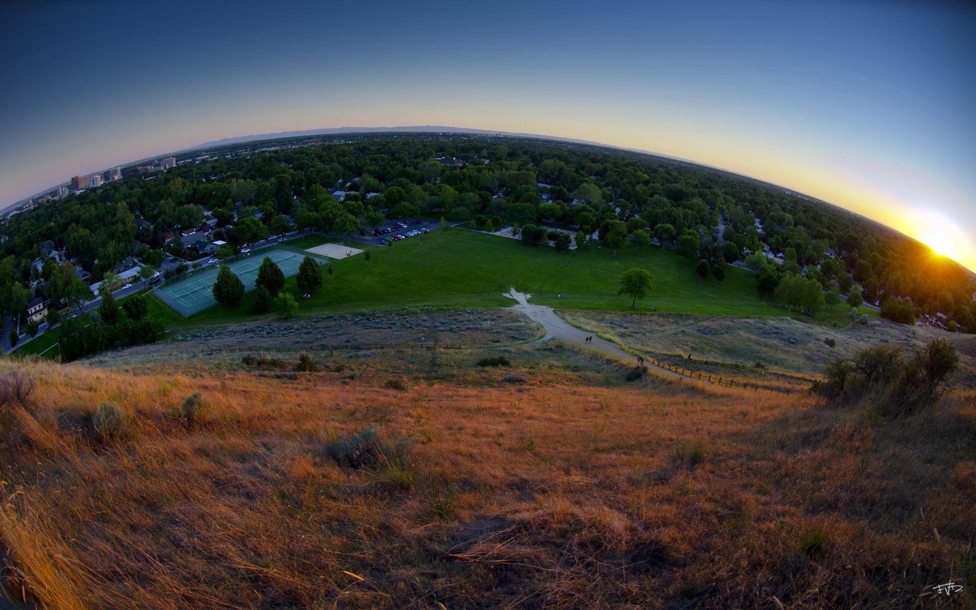
POLYGON ((972 389, 889 422, 576 356, 445 354, 450 379, 4 362, 37 381, 0 448, 12 585, 68 609, 895 608, 951 607, 930 588, 954 579, 972 607, 972 389), (409 441, 396 469, 329 457, 370 426, 409 441))

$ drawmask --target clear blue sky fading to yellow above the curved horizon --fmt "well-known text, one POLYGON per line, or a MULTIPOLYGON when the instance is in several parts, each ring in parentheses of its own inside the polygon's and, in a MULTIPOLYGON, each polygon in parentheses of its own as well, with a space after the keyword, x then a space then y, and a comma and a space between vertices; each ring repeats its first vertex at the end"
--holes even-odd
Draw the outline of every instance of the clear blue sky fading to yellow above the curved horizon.
POLYGON ((444 125, 781 184, 976 269, 949 2, 0 2, 0 207, 222 138, 444 125))

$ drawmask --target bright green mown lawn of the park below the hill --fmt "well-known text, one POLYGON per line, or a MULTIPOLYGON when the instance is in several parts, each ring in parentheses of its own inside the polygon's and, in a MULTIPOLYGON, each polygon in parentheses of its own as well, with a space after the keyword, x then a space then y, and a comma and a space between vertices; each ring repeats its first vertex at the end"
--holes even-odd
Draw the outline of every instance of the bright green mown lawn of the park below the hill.
MULTIPOLYGON (((325 241, 318 235, 299 240, 306 240, 309 247, 325 241)), ((797 315, 762 300, 750 271, 729 267, 724 281, 703 281, 695 274, 693 261, 661 248, 624 252, 617 258, 609 250, 596 247, 559 253, 553 248, 527 247, 516 240, 458 228, 397 242, 391 248, 367 248, 372 253, 370 261, 355 257, 333 262, 334 278, 326 279, 311 299, 299 300, 301 312, 404 305, 508 306, 512 302, 502 293, 510 286, 532 294, 532 302, 539 305, 624 310, 630 308, 630 299, 616 294, 618 277, 631 266, 641 266, 657 280, 652 296, 638 302, 637 310, 657 307, 659 311, 711 315, 797 315), (557 298, 559 293, 566 298, 557 298)), ((299 296, 294 278, 288 280, 286 288, 299 296)), ((258 317, 253 312, 254 294, 249 294, 236 307, 215 305, 190 316, 180 326, 258 317)), ((847 307, 837 305, 818 321, 846 324, 846 312, 847 307)))

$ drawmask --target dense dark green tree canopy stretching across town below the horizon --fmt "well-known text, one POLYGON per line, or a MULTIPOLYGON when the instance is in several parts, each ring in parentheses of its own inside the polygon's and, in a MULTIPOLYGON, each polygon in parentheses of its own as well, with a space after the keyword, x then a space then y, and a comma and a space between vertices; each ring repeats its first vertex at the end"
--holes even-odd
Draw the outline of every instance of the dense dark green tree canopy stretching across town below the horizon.
MULTIPOLYGON (((129 256, 158 266, 164 250, 180 254, 183 244, 167 243, 167 233, 208 220, 215 238, 237 248, 288 226, 347 236, 386 217, 463 222, 482 215, 493 226, 555 224, 584 237, 600 229, 612 247, 646 247, 643 234, 634 235, 647 230, 662 246, 677 240, 683 254, 712 267, 719 258, 755 261, 768 248, 787 261, 782 269, 824 289, 846 294, 860 285, 868 302, 908 300, 919 313, 939 311, 976 332, 976 286, 958 264, 770 184, 635 152, 531 139, 363 134, 274 145, 193 151, 178 159, 198 162, 165 173, 126 168, 123 180, 9 217, 0 228, 0 306, 22 313, 24 291, 65 305, 86 298, 68 269, 54 268, 61 263, 46 264, 51 250, 64 249, 71 272, 99 281, 129 256), (45 265, 53 279, 35 284, 45 265)), ((530 243, 542 243, 548 228, 541 230, 530 243)))

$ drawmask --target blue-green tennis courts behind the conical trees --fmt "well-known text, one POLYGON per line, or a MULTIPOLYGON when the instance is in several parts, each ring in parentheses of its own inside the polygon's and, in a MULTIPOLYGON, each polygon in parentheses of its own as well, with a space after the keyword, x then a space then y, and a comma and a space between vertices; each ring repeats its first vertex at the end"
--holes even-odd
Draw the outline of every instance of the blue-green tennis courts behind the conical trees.
MULTIPOLYGON (((246 259, 229 263, 230 270, 244 282, 245 291, 250 292, 255 289, 254 280, 258 277, 258 267, 261 266, 264 257, 269 257, 281 267, 281 271, 285 274, 285 277, 290 277, 299 272, 299 265, 305 259, 305 254, 275 248, 273 250, 256 252, 246 259)), ((322 263, 321 258, 312 258, 315 258, 319 264, 322 263)), ((161 285, 155 290, 155 294, 159 297, 160 301, 166 305, 170 305, 183 314, 183 316, 192 315, 197 311, 203 311, 207 307, 217 305, 213 290, 214 283, 217 281, 218 271, 220 271, 220 265, 214 264, 211 268, 196 273, 184 280, 174 282, 170 285, 161 285)))

